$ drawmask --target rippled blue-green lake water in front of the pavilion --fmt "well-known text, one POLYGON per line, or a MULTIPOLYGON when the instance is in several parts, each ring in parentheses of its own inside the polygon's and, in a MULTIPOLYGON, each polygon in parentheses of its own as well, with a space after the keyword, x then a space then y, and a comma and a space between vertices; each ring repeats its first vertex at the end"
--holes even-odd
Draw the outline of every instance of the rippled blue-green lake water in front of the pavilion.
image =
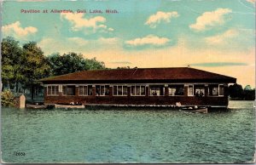
POLYGON ((253 101, 207 114, 2 109, 3 162, 241 163, 254 145, 253 101))

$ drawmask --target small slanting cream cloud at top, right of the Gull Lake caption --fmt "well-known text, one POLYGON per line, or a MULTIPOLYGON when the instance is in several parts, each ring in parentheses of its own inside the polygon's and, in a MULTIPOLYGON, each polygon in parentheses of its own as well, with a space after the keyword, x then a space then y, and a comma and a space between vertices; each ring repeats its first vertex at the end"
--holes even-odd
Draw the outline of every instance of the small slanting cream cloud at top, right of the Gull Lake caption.
POLYGON ((150 15, 148 20, 145 22, 145 25, 155 28, 160 22, 169 23, 172 18, 177 18, 179 15, 176 11, 173 12, 162 12, 159 11, 156 14, 150 15))

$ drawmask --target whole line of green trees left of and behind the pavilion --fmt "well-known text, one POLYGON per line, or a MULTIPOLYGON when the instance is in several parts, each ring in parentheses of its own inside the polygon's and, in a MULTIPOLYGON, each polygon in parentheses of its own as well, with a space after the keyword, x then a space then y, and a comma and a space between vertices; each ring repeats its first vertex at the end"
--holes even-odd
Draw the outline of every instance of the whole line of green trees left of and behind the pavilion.
MULTIPOLYGON (((38 79, 57 76, 75 71, 105 69, 102 61, 84 58, 83 54, 51 54, 45 56, 36 42, 20 46, 13 37, 3 38, 2 55, 2 91, 13 89, 15 93, 25 93, 40 88, 38 79)), ((33 95, 32 95, 33 98, 33 95)))

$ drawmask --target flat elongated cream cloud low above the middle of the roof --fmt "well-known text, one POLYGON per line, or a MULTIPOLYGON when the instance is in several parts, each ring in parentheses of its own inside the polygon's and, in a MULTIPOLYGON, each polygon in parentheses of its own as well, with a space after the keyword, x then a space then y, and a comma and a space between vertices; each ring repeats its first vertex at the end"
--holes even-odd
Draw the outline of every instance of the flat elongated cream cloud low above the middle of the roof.
POLYGON ((157 37, 154 35, 148 35, 146 37, 138 37, 125 43, 130 46, 143 46, 143 45, 154 45, 154 46, 163 46, 166 43, 170 42, 170 39, 166 37, 157 37))

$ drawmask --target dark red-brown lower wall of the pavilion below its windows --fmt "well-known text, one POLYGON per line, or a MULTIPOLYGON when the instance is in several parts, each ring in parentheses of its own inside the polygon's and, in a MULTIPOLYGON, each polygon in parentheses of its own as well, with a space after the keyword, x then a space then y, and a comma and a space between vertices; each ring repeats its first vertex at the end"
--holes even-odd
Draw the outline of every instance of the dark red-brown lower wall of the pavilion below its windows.
POLYGON ((93 88, 93 95, 79 96, 79 89, 76 87, 76 94, 73 96, 62 95, 61 92, 57 96, 48 96, 45 88, 44 103, 45 104, 61 104, 61 103, 80 103, 84 105, 176 105, 180 102, 181 105, 215 105, 227 106, 228 105, 228 88, 224 89, 224 96, 204 96, 195 97, 187 96, 185 86, 184 96, 168 96, 168 88, 165 90, 164 96, 149 96, 148 87, 146 87, 146 96, 131 96, 131 89, 128 88, 128 96, 113 96, 112 88, 110 88, 110 95, 96 96, 95 87, 93 88))

